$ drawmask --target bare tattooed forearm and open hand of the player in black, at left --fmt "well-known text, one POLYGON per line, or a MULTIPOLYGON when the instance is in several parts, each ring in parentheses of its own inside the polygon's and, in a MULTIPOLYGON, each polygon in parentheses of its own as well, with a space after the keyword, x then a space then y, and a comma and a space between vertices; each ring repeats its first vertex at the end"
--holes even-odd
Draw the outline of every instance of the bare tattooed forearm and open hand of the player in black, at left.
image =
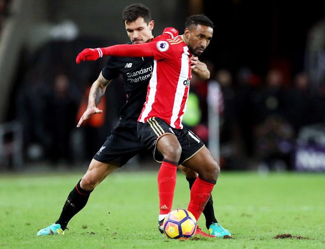
POLYGON ((84 120, 89 119, 93 114, 99 114, 103 111, 97 108, 101 98, 103 97, 106 87, 111 82, 111 80, 107 80, 103 77, 103 75, 99 74, 98 78, 95 80, 93 85, 91 86, 89 97, 88 97, 88 106, 85 112, 82 114, 77 127, 80 127, 84 120))

